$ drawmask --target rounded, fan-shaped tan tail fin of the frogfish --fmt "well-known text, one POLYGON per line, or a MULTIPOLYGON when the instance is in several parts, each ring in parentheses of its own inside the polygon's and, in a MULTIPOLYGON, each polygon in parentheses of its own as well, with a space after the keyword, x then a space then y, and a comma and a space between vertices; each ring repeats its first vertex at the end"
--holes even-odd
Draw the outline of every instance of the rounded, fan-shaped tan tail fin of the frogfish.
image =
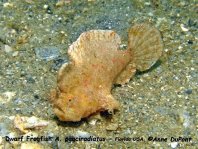
POLYGON ((128 48, 133 55, 136 69, 145 71, 162 55, 163 42, 160 32, 146 23, 134 25, 129 30, 128 48))

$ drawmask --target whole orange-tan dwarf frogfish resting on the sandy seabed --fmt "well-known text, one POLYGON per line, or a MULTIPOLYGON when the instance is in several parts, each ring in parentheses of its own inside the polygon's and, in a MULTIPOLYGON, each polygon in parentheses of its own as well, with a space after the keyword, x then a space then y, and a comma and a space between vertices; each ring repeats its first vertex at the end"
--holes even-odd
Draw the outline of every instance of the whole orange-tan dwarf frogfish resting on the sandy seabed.
POLYGON ((96 112, 118 109, 112 85, 127 83, 136 70, 149 69, 163 49, 160 32, 148 24, 131 27, 127 50, 119 50, 120 44, 112 30, 90 30, 69 47, 70 62, 60 68, 50 98, 61 121, 80 121, 96 112))

